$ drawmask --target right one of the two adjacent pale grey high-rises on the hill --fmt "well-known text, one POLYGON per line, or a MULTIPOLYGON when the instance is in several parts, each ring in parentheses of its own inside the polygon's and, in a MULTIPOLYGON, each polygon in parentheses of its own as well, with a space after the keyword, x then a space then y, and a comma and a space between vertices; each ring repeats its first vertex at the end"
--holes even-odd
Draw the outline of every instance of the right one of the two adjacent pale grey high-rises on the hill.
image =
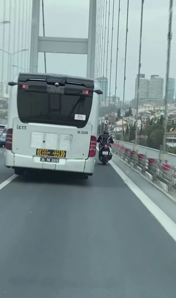
POLYGON ((151 75, 148 98, 163 98, 163 87, 164 79, 156 74, 151 75))

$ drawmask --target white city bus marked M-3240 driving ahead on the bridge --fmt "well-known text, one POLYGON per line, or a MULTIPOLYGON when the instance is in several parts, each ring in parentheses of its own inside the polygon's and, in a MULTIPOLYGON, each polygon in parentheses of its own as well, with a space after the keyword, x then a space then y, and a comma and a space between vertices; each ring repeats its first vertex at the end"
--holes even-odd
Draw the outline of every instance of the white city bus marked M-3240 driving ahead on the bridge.
POLYGON ((61 74, 20 73, 11 86, 5 166, 94 172, 102 94, 96 80, 61 74))

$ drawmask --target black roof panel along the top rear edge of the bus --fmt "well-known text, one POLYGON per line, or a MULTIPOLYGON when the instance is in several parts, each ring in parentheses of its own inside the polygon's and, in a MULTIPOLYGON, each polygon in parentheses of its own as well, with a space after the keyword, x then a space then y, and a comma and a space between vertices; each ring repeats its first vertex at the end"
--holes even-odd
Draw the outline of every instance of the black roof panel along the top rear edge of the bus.
POLYGON ((86 88, 94 89, 94 80, 83 78, 83 77, 76 77, 76 76, 67 76, 65 74, 55 74, 55 73, 19 73, 19 82, 27 82, 30 80, 44 80, 48 84, 50 83, 59 83, 63 86, 66 84, 73 84, 73 85, 82 85, 86 88))

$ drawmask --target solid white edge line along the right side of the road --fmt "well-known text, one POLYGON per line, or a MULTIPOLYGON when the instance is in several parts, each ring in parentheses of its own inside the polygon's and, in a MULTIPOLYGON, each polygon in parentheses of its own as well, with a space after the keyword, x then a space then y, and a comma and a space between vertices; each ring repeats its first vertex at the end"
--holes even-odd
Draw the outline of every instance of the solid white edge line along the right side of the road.
POLYGON ((141 203, 152 213, 160 225, 176 241, 176 224, 156 204, 154 204, 154 202, 135 183, 133 183, 132 180, 112 160, 110 160, 109 163, 124 183, 127 184, 135 196, 141 201, 141 203))

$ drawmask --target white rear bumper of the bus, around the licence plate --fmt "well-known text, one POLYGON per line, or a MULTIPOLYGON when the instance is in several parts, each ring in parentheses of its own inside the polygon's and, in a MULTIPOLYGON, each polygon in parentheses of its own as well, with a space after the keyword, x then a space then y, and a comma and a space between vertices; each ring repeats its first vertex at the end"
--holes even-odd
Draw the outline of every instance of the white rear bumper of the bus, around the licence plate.
POLYGON ((67 171, 85 173, 88 175, 93 174, 95 164, 94 158, 88 158, 88 160, 60 159, 59 163, 41 162, 40 157, 13 154, 8 150, 5 150, 4 158, 6 167, 67 171))

